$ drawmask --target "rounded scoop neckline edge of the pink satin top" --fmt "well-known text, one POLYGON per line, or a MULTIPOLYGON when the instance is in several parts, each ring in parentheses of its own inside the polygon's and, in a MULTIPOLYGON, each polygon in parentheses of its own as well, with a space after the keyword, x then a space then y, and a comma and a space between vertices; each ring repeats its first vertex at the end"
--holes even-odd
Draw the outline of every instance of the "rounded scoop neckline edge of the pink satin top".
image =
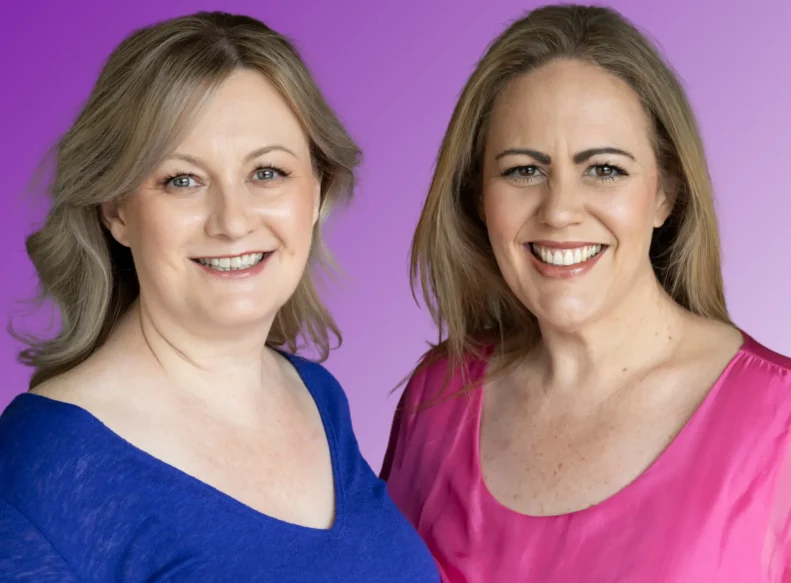
MULTIPOLYGON (((682 426, 681 430, 676 434, 676 436, 668 443, 668 445, 656 456, 653 461, 642 471, 640 472, 637 477, 635 477, 631 482, 625 484, 619 490, 613 492, 611 495, 607 496, 603 500, 593 504, 591 506, 587 506, 585 508, 580 508, 579 510, 572 510, 571 512, 564 512, 561 514, 547 514, 547 515, 536 515, 536 514, 527 514, 524 512, 519 512, 518 510, 514 510, 509 506, 506 506, 502 502, 500 502, 497 497, 489 490, 489 486, 486 484, 486 480, 483 476, 483 466, 481 464, 481 421, 483 417, 483 391, 485 389, 485 385, 483 383, 479 384, 477 392, 477 403, 475 404, 474 409, 474 422, 472 424, 473 431, 474 431, 474 451, 473 451, 473 463, 475 469, 475 481, 476 486, 480 488, 484 492, 484 496, 487 499, 488 503, 498 510, 502 512, 506 512, 512 514, 522 520, 530 520, 530 521, 552 521, 552 520, 562 520, 562 519, 571 519, 571 518, 578 518, 582 516, 588 515, 597 515, 605 510, 609 509, 611 506, 618 504, 624 499, 628 499, 630 496, 634 495, 635 490, 640 488, 640 485, 648 480, 654 473, 658 471, 658 468, 665 465, 665 460, 672 455, 672 452, 678 449, 679 443, 686 441, 686 436, 692 433, 695 427, 701 422, 701 419, 705 416, 705 414, 711 409, 713 406, 714 401, 719 395, 722 386, 724 384, 725 379, 731 372, 731 369, 744 357, 744 355, 750 350, 750 348, 754 345, 755 341, 744 331, 739 330, 742 335, 742 344, 736 353, 730 358, 728 363, 722 369, 720 374, 717 376, 717 379, 712 383, 711 388, 709 389, 708 393, 706 394, 705 398, 692 415, 687 419, 687 421, 682 426)), ((478 380, 482 379, 486 375, 486 371, 489 367, 489 362, 491 360, 491 353, 493 351, 493 346, 490 346, 487 350, 487 353, 484 355, 485 359, 481 361, 481 366, 479 367, 478 374, 476 375, 475 379, 472 379, 473 382, 477 382, 478 380)))

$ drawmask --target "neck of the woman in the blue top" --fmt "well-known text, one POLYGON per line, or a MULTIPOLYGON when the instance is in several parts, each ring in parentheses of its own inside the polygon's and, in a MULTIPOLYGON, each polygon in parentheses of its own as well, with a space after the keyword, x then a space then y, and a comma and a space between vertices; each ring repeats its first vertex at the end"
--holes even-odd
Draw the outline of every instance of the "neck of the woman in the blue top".
POLYGON ((266 347, 271 322, 218 335, 199 325, 188 328, 163 312, 140 298, 120 323, 122 336, 131 336, 139 349, 135 353, 149 357, 152 374, 218 415, 254 416, 264 387, 280 379, 279 359, 266 347))

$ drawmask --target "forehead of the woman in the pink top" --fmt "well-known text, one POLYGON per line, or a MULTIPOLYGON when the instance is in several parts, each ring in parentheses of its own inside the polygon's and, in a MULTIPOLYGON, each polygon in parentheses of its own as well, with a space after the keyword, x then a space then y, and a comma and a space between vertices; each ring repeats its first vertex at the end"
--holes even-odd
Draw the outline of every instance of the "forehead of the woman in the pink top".
POLYGON ((621 146, 651 149, 652 129, 629 85, 595 65, 558 60, 512 80, 495 101, 488 143, 525 140, 550 149, 621 146), (543 146, 542 146, 543 145, 543 146))

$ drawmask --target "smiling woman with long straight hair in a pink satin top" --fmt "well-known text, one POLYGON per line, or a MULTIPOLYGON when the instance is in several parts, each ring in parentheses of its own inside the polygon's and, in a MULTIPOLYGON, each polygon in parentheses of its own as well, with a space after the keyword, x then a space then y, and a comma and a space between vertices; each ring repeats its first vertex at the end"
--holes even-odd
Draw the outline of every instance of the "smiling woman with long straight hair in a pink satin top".
POLYGON ((791 581, 791 361, 730 322, 698 129, 632 25, 494 42, 412 258, 443 341, 383 477, 444 581, 791 581))

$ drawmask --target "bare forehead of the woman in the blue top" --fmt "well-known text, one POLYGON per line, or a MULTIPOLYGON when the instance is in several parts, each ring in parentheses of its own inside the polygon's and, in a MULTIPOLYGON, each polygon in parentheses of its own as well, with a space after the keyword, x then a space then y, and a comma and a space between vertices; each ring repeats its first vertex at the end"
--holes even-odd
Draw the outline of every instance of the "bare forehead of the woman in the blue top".
POLYGON ((202 148, 216 140, 250 142, 252 147, 277 143, 305 149, 307 137, 280 92, 262 74, 233 72, 194 119, 182 146, 202 148))

